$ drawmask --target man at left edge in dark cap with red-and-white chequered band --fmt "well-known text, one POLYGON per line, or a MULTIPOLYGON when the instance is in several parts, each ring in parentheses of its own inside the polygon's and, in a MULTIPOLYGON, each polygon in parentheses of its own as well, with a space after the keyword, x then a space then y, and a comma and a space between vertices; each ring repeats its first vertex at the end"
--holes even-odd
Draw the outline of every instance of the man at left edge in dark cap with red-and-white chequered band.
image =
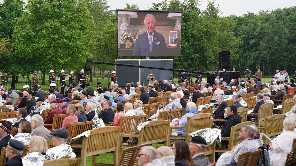
POLYGON ((11 125, 8 121, 0 121, 0 152, 3 147, 6 147, 10 140, 11 125))

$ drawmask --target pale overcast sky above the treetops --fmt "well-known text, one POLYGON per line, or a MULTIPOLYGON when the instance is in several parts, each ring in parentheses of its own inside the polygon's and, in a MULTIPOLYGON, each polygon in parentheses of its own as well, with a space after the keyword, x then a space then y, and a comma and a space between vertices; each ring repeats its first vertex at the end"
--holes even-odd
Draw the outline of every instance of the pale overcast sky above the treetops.
MULTIPOLYGON (((159 3, 163 0, 139 1, 139 0, 109 0, 110 10, 123 9, 126 3, 137 4, 144 10, 152 6, 152 2, 159 3)), ((169 1, 169 0, 168 0, 169 1)), ((183 1, 183 0, 181 0, 183 1)), ((3 0, 0 0, 3 3, 3 0)), ((27 2, 27 0, 24 0, 27 2)), ((199 8, 204 10, 207 7, 208 0, 201 0, 199 8)), ((219 5, 222 12, 221 16, 237 15, 241 16, 247 11, 258 13, 260 10, 274 10, 277 8, 289 8, 296 5, 295 0, 216 0, 215 5, 219 5)))

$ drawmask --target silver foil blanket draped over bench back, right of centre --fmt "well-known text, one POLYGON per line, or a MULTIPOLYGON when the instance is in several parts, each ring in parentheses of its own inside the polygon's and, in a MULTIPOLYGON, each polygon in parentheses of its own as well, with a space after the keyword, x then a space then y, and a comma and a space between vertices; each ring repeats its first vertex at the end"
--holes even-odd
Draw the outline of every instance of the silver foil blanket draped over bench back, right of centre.
POLYGON ((204 138, 207 142, 207 146, 210 146, 217 138, 221 140, 221 130, 220 129, 200 129, 195 132, 190 133, 191 137, 200 136, 204 138))

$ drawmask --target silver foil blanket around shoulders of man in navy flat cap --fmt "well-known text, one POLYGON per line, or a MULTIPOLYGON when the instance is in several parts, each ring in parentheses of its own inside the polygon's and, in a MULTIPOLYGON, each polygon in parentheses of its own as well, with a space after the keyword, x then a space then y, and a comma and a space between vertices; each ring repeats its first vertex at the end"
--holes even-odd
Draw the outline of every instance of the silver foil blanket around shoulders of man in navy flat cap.
POLYGON ((54 160, 58 158, 76 158, 76 155, 68 144, 62 144, 46 151, 45 160, 54 160))

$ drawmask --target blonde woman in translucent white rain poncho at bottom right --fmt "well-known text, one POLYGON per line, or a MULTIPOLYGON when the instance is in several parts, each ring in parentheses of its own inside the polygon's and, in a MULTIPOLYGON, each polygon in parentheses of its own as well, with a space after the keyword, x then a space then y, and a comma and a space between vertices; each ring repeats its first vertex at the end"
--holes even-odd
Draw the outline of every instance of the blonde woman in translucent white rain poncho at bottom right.
POLYGON ((296 138, 296 122, 293 118, 286 118, 283 122, 284 131, 274 138, 270 144, 270 164, 285 165, 288 154, 292 150, 293 139, 296 138))

